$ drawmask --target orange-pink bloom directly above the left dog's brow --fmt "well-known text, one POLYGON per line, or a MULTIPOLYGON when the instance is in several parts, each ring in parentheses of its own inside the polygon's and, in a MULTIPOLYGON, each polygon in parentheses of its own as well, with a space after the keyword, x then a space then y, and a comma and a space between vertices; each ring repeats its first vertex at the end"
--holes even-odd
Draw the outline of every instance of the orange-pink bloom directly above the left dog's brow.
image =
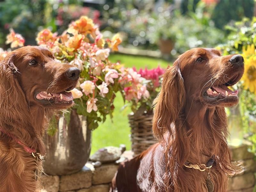
POLYGON ((57 40, 57 33, 52 33, 49 29, 44 29, 37 34, 37 44, 53 44, 57 40))

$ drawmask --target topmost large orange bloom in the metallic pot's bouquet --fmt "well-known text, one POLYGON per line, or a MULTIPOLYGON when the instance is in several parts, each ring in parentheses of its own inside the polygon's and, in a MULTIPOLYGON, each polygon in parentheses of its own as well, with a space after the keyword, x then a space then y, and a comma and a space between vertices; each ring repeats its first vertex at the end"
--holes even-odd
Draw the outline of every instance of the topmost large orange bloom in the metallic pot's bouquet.
POLYGON ((69 25, 68 33, 73 35, 79 33, 86 36, 88 33, 91 34, 95 30, 93 27, 93 21, 86 16, 82 16, 79 20, 76 20, 69 25))

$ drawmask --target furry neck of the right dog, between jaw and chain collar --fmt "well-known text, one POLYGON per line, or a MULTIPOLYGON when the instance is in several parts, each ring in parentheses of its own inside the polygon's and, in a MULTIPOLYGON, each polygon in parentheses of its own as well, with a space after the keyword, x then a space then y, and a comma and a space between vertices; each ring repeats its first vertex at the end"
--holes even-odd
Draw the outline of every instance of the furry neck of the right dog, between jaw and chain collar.
POLYGON ((227 151, 227 118, 224 107, 206 108, 198 103, 188 103, 184 108, 184 138, 189 145, 187 160, 206 163, 212 155, 227 151))

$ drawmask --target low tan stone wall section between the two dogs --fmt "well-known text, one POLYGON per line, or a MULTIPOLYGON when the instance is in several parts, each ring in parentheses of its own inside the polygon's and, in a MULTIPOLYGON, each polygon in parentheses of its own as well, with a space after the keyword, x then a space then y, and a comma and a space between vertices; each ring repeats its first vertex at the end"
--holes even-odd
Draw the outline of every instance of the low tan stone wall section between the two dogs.
POLYGON ((117 168, 116 164, 102 164, 94 168, 87 163, 80 172, 70 175, 42 175, 41 183, 47 192, 108 192, 117 168))

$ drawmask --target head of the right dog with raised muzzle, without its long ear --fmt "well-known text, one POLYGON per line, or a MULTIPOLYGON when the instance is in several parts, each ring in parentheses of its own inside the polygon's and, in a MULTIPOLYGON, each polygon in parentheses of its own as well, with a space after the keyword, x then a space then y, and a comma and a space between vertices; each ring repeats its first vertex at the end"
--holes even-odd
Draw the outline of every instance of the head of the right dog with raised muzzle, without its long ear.
POLYGON ((231 107, 238 103, 238 91, 228 86, 236 84, 244 73, 241 55, 221 56, 215 49, 195 48, 180 55, 174 67, 180 70, 187 99, 194 98, 204 107, 231 107))

